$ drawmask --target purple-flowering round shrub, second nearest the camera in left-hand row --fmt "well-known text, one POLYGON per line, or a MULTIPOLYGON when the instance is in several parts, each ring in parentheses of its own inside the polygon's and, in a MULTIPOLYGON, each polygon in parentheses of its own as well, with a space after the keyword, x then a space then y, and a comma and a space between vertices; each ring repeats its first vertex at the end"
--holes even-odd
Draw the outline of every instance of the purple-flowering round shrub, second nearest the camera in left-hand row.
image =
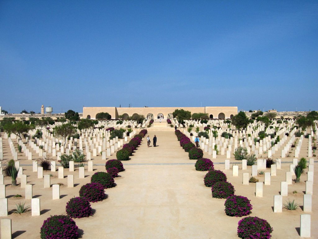
POLYGON ((66 203, 66 214, 73 218, 89 217, 92 215, 92 207, 85 198, 71 198, 66 203))

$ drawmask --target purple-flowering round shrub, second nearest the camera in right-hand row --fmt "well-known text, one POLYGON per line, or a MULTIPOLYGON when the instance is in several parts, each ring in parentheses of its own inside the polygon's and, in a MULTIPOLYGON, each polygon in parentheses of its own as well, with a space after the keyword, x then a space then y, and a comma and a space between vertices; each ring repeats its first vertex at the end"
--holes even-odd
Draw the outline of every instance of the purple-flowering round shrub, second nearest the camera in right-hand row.
POLYGON ((224 203, 225 213, 228 216, 242 217, 252 213, 252 204, 243 196, 231 195, 224 203))

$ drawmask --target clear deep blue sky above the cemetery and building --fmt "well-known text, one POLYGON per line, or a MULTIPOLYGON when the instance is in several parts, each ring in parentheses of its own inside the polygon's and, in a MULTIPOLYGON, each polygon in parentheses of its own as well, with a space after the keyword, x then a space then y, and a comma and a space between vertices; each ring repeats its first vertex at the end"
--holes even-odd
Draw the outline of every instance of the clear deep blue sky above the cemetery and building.
POLYGON ((317 1, 0 1, 0 105, 318 110, 317 1))

